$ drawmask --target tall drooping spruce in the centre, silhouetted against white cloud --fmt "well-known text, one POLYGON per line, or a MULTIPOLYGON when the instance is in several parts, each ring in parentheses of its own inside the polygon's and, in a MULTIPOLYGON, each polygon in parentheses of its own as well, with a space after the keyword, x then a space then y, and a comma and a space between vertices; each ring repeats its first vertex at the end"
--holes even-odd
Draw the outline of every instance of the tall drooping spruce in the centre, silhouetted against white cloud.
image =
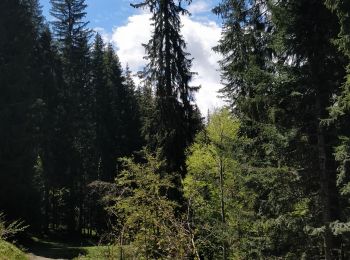
MULTIPOLYGON (((185 1, 190 3, 191 1, 185 1)), ((155 88, 156 146, 162 149, 170 171, 185 172, 184 150, 193 140, 199 127, 193 127, 194 92, 190 86, 192 60, 186 53, 186 43, 180 34, 180 14, 188 11, 181 1, 147 0, 133 5, 148 8, 152 13, 152 38, 145 44, 146 80, 155 88)))

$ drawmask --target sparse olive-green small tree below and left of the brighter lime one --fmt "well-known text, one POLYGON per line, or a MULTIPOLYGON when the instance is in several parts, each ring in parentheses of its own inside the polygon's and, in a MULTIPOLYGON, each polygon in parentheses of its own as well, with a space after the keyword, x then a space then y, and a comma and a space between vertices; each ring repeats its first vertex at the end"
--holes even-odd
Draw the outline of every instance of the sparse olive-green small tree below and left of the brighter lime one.
POLYGON ((189 252, 186 231, 177 218, 178 205, 167 197, 173 182, 159 154, 144 151, 144 159, 145 163, 121 160, 120 195, 111 208, 120 220, 119 244, 131 244, 135 256, 142 259, 184 259, 189 252))

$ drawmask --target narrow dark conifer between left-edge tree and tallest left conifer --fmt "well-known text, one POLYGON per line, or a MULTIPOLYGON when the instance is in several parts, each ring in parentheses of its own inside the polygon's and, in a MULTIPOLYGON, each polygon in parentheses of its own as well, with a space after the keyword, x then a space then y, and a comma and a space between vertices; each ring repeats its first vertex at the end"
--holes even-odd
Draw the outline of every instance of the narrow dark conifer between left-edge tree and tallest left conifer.
POLYGON ((41 162, 42 170, 42 208, 45 215, 43 227, 47 231, 50 223, 57 223, 57 217, 53 212, 57 212, 53 194, 63 183, 60 177, 60 166, 56 158, 63 153, 60 150, 60 138, 57 132, 59 128, 59 104, 60 91, 62 87, 61 62, 58 56, 57 48, 53 42, 51 31, 48 27, 42 30, 40 38, 40 54, 38 68, 40 70, 40 79, 37 81, 41 88, 40 101, 37 105, 38 126, 37 143, 38 160, 41 162))

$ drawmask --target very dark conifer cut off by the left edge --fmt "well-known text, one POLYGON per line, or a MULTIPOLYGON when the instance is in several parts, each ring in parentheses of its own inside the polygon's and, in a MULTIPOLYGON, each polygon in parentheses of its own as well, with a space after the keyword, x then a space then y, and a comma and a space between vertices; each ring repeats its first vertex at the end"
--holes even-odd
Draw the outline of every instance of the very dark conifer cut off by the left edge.
POLYGON ((19 0, 0 3, 0 208, 9 218, 24 218, 35 227, 39 199, 33 183, 36 144, 31 117, 39 92, 39 33, 29 7, 19 0))

